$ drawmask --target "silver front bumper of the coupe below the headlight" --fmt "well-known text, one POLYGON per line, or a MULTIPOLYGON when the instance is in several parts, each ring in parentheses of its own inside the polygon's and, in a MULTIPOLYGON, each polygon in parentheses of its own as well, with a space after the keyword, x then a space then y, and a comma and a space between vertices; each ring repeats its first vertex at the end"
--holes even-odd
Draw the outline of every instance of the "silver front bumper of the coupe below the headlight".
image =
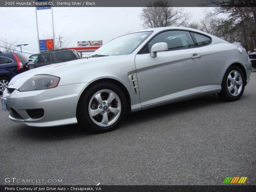
POLYGON ((9 118, 36 127, 75 124, 77 103, 88 84, 62 85, 28 92, 14 90, 12 93, 6 89, 3 97, 7 100, 9 118), (27 109, 43 109, 44 114, 40 118, 31 118, 27 109))

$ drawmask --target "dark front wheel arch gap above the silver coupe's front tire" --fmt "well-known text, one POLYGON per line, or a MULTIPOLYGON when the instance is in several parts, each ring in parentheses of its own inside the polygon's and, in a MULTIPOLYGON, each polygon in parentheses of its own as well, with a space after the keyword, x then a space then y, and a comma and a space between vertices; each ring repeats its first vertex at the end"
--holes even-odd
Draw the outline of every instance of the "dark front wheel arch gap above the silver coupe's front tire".
MULTIPOLYGON (((84 92, 86 92, 88 89, 90 89, 94 84, 96 83, 106 83, 106 82, 109 82, 109 83, 112 83, 112 84, 115 84, 117 85, 123 92, 124 92, 124 95, 125 95, 125 99, 126 99, 126 102, 127 102, 127 113, 130 113, 131 112, 131 97, 130 97, 130 94, 128 92, 128 90, 126 89, 126 87, 124 86, 124 84, 122 84, 120 81, 116 80, 116 79, 111 79, 111 78, 102 78, 102 79, 97 79, 95 81, 93 81, 92 83, 90 83, 90 85, 88 85, 84 91, 81 93, 80 97, 79 97, 79 100, 77 102, 77 105, 81 99, 81 96, 83 95, 84 92)), ((76 106, 76 109, 77 109, 77 106, 76 106)))

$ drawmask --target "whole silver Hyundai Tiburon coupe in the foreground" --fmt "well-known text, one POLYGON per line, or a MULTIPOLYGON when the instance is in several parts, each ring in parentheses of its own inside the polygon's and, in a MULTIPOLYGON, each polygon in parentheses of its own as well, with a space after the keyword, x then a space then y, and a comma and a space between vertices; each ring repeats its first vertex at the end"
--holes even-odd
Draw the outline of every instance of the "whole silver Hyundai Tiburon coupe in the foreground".
POLYGON ((106 132, 129 112, 214 93, 238 100, 251 68, 239 44, 191 28, 145 29, 119 36, 85 59, 17 75, 1 101, 18 123, 79 123, 106 132))

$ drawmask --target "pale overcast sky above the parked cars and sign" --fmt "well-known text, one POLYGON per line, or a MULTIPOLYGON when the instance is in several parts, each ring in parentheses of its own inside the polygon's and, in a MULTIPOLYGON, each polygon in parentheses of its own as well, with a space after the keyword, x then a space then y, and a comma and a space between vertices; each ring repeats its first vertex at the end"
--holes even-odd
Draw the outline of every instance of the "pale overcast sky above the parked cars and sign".
MULTIPOLYGON (((184 9, 191 14, 190 22, 199 22, 205 11, 213 8, 184 9)), ((69 47, 76 47, 78 41, 103 40, 105 44, 116 36, 143 29, 141 10, 141 7, 53 7, 55 40, 60 35, 62 41, 70 42, 69 47)), ((51 10, 38 10, 37 16, 39 39, 51 38, 51 10)), ((28 44, 22 47, 23 52, 38 53, 35 7, 0 7, 0 41, 28 44)))

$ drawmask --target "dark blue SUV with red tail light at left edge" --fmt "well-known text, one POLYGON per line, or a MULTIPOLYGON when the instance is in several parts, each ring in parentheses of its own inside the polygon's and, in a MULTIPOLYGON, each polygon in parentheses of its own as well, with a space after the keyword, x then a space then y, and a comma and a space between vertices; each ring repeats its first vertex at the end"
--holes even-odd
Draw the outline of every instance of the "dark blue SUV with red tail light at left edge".
POLYGON ((34 68, 34 63, 21 53, 0 52, 0 94, 4 92, 12 77, 34 68))

